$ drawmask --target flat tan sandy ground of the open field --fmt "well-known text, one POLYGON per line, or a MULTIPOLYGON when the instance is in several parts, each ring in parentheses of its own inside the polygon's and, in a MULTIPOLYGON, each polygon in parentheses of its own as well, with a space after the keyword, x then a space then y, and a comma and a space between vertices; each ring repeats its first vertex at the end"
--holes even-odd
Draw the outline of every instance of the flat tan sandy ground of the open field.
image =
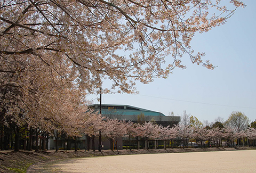
POLYGON ((51 164, 53 172, 256 172, 256 151, 101 156, 51 164))

